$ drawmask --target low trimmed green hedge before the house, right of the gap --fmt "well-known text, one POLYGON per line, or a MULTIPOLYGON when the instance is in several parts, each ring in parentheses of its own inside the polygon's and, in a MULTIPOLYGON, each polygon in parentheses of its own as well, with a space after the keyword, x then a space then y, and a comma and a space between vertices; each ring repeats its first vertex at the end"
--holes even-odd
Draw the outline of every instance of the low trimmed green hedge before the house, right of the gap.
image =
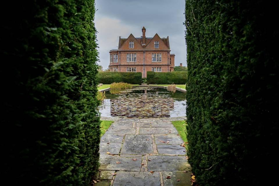
POLYGON ((147 71, 148 84, 176 84, 183 85, 187 80, 187 72, 153 72, 147 71))

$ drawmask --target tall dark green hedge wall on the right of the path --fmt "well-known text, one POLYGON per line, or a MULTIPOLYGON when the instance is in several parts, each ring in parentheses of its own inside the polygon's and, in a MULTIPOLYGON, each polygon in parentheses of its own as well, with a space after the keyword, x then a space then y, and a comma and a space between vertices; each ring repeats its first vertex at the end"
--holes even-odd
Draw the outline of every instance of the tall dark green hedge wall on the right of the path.
POLYGON ((185 2, 188 156, 197 181, 275 185, 277 6, 259 0, 185 2))

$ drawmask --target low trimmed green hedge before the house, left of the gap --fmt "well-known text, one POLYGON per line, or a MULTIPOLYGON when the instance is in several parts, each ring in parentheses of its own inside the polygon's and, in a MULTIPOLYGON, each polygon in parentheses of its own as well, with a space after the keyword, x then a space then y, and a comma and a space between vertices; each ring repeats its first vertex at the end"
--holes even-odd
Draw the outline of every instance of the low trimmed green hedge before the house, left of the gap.
POLYGON ((130 83, 130 84, 141 84, 142 73, 141 72, 99 72, 98 81, 103 84, 111 83, 130 83))

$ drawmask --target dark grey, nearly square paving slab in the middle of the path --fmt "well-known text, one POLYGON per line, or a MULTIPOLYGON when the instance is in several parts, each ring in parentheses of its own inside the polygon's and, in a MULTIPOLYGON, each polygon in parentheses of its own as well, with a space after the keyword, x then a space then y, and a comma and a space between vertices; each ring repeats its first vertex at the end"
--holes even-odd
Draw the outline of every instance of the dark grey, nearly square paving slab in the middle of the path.
POLYGON ((141 154, 152 153, 151 135, 126 135, 120 154, 141 154))

